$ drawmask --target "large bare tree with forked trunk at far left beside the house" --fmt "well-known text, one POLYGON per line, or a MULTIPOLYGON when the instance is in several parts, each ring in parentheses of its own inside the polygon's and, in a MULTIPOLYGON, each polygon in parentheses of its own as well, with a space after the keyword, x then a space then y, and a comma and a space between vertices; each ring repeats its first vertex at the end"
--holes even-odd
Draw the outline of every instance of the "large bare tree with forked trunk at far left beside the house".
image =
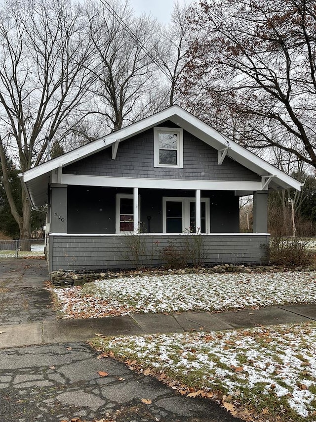
POLYGON ((0 11, 0 160, 20 238, 30 236, 30 203, 14 201, 5 154, 26 171, 45 158, 47 141, 79 118, 91 85, 89 39, 79 6, 68 0, 9 0, 0 11))

